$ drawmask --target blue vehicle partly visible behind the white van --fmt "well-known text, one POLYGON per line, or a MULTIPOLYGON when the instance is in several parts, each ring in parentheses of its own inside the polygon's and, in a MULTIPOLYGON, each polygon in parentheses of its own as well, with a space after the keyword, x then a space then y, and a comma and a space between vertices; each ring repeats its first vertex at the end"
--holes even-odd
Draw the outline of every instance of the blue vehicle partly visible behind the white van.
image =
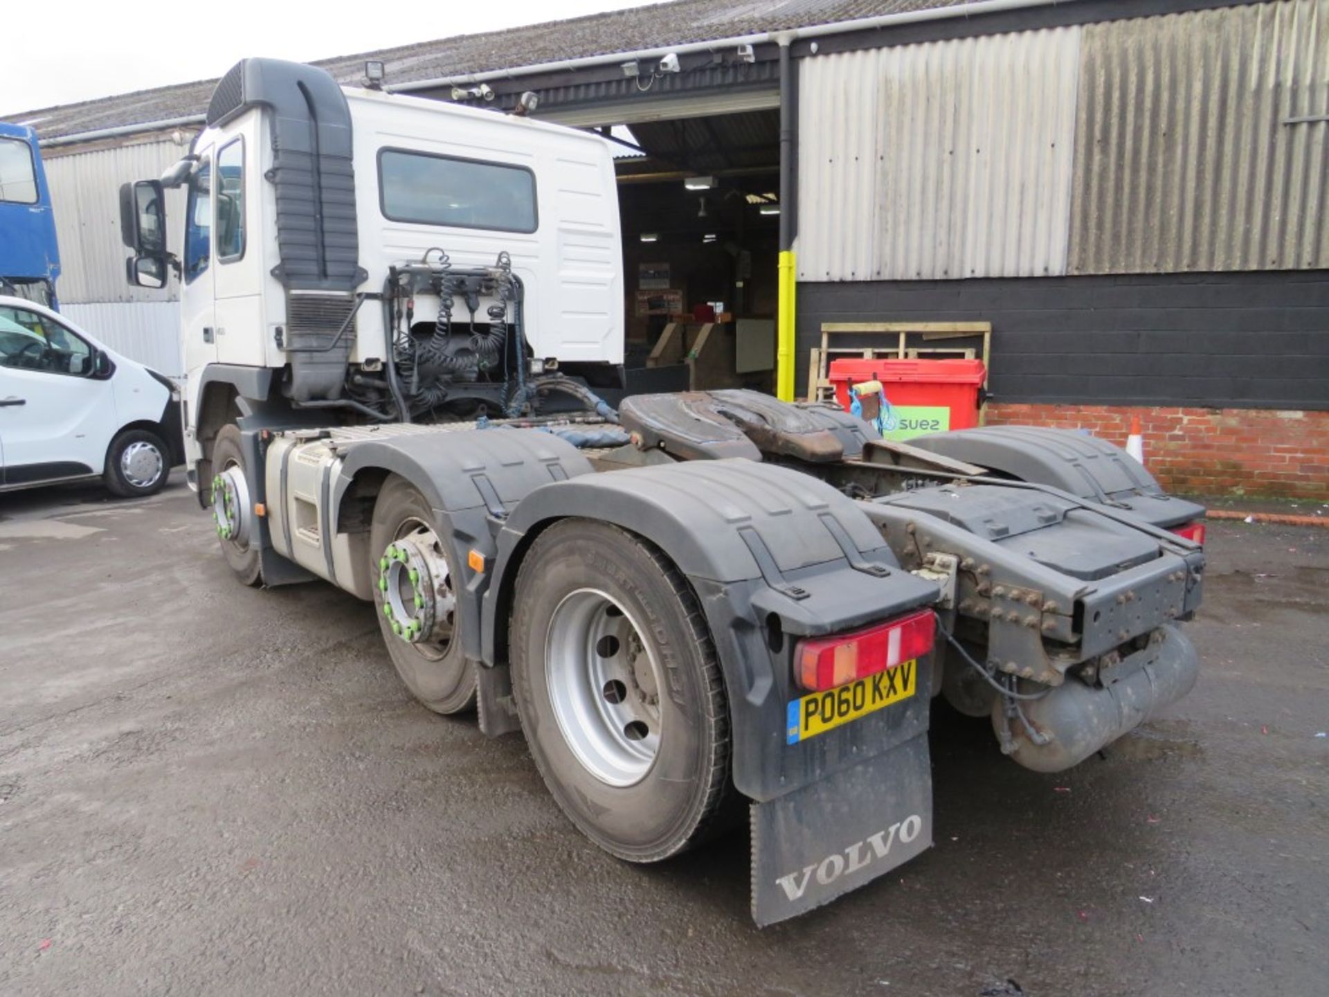
POLYGON ((37 133, 0 122, 0 294, 57 307, 60 250, 37 133))

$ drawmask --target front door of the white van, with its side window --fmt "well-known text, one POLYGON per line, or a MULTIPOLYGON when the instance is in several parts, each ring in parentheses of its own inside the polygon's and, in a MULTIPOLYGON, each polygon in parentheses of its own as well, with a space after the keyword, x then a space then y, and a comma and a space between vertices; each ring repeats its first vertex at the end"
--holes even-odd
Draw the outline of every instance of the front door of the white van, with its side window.
POLYGON ((112 370, 92 343, 35 308, 0 306, 4 483, 100 475, 120 428, 112 370))

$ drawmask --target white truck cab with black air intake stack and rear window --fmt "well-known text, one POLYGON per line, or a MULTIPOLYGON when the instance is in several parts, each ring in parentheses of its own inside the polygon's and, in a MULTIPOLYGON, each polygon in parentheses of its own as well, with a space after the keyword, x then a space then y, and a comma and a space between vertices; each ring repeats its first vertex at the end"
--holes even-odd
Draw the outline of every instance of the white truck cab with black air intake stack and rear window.
POLYGON ((429 423, 530 411, 533 371, 619 383, 618 202, 597 136, 246 60, 189 156, 121 207, 129 279, 179 279, 194 487, 217 432, 256 407, 429 423), (163 217, 173 186, 182 219, 163 217), (183 227, 182 259, 162 225, 183 227), (415 295, 428 287, 444 292, 415 295))

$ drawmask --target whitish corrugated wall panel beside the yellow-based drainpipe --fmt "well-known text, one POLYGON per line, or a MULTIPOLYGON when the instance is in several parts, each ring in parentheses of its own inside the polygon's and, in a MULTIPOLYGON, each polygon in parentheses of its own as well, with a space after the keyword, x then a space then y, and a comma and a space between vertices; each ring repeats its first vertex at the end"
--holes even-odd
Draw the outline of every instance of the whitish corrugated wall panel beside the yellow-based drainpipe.
POLYGON ((1079 32, 801 60, 799 277, 1065 274, 1079 32))

